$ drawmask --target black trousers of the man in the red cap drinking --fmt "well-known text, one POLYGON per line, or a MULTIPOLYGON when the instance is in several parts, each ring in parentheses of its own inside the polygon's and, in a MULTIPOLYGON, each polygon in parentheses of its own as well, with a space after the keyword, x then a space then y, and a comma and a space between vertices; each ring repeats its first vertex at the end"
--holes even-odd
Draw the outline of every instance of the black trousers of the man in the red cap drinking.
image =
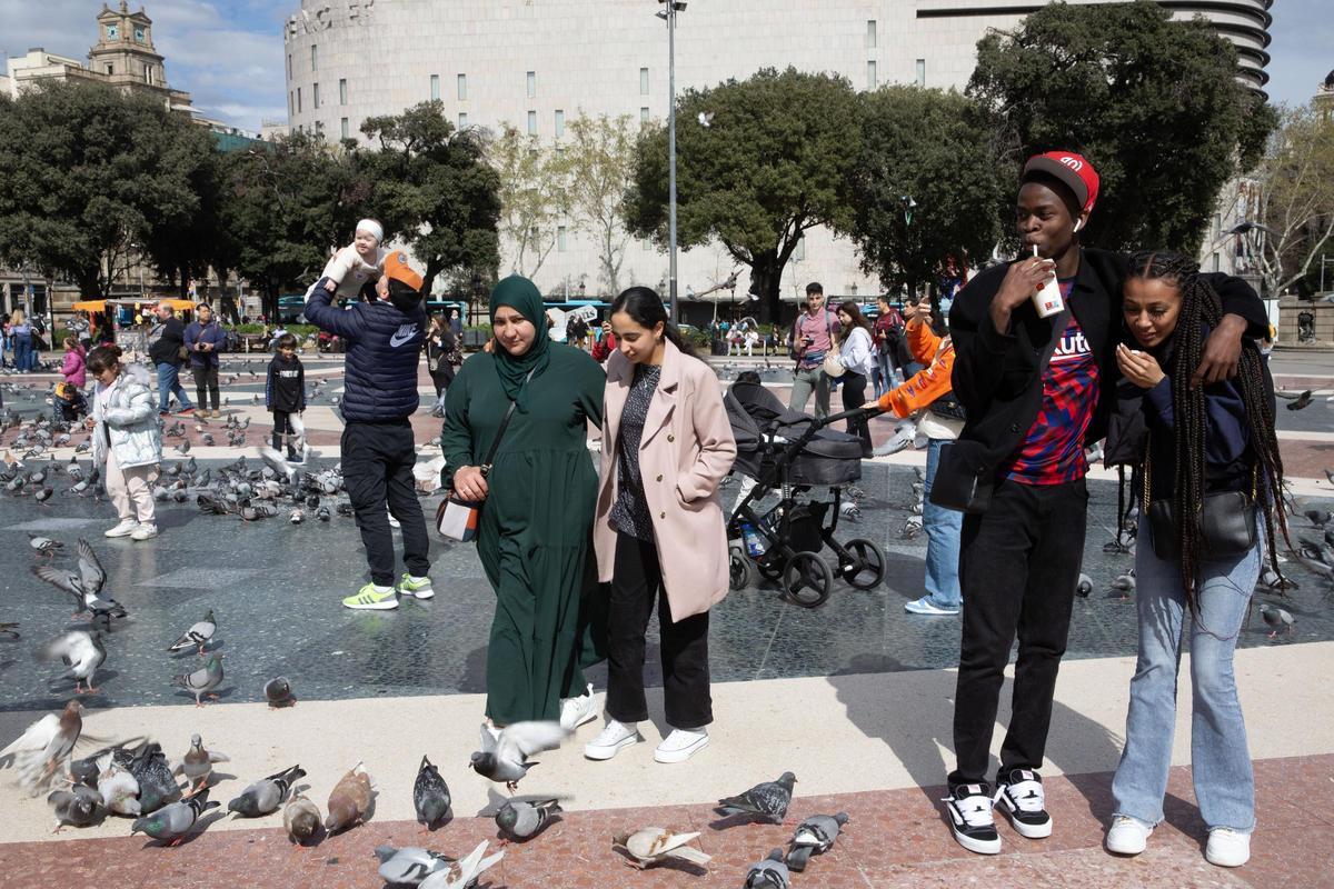
POLYGON ((1005 668, 1019 637, 1000 773, 1039 769, 1051 725, 1057 670, 1083 558, 1089 488, 998 481, 991 506, 963 517, 959 585, 963 641, 954 696, 950 785, 986 784, 1005 668))

